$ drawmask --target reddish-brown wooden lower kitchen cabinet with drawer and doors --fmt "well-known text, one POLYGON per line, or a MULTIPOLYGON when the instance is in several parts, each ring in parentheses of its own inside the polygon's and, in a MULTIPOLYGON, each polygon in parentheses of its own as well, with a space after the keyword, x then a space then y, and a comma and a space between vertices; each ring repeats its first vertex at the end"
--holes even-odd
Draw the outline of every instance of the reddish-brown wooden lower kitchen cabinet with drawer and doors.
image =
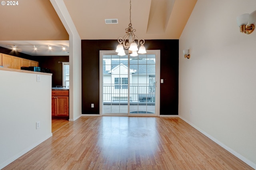
POLYGON ((69 91, 52 90, 52 119, 69 118, 69 91))

